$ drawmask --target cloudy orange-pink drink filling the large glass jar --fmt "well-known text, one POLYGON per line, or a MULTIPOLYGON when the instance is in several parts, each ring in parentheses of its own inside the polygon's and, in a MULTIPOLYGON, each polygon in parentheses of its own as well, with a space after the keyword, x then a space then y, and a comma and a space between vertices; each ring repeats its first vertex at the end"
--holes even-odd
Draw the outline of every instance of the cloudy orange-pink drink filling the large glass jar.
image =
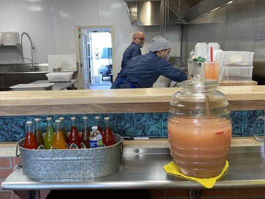
POLYGON ((168 134, 174 163, 187 176, 218 176, 226 164, 231 132, 231 121, 226 118, 170 117, 168 134))

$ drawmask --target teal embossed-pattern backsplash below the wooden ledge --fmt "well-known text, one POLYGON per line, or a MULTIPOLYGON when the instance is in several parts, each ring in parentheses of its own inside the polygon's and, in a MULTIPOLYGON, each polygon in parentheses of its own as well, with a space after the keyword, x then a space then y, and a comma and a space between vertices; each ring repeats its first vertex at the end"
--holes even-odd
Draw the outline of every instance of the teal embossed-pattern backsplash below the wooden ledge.
MULTIPOLYGON (((88 125, 93 125, 94 116, 96 114, 86 114, 88 116, 88 125)), ((264 116, 264 110, 248 110, 248 111, 232 111, 232 134, 235 137, 252 136, 254 123, 258 116, 264 116)), ((46 128, 45 119, 48 115, 39 116, 41 119, 41 128, 43 132, 46 128)), ((53 119, 64 116, 66 120, 66 129, 69 131, 71 127, 70 117, 73 115, 52 115, 53 119)), ((79 130, 82 130, 82 116, 76 115, 79 121, 79 130)), ((168 113, 117 113, 102 114, 101 126, 103 127, 103 117, 110 116, 111 128, 115 133, 121 136, 148 136, 148 137, 167 137, 168 113)), ((25 121, 31 120, 37 116, 0 116, 0 141, 18 141, 25 135, 25 121)), ((264 134, 264 121, 258 122, 257 134, 264 134)))

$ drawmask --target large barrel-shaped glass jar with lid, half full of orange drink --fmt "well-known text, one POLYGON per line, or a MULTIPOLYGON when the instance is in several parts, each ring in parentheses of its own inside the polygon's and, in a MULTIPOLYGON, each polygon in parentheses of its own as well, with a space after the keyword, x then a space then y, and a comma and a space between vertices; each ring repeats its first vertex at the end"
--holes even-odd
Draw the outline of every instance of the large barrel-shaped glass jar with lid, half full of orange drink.
POLYGON ((196 178, 220 174, 229 153, 231 115, 218 82, 196 75, 180 83, 168 118, 171 155, 181 173, 196 178))

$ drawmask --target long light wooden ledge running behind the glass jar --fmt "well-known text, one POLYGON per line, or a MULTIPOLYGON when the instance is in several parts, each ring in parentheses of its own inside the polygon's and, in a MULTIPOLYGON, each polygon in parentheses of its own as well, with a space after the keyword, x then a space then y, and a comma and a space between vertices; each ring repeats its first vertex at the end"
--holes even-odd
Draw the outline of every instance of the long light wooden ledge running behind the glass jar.
MULTIPOLYGON (((181 88, 1 92, 0 115, 168 112, 181 88)), ((231 110, 264 110, 265 86, 226 86, 231 110)))

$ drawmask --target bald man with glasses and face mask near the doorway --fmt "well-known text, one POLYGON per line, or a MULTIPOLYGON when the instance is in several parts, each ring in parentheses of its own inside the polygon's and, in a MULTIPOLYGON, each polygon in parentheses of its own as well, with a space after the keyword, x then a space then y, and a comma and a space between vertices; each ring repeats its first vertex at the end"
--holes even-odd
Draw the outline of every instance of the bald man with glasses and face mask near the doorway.
POLYGON ((124 69, 133 57, 141 55, 141 48, 145 43, 145 35, 141 31, 137 31, 133 34, 132 43, 123 53, 122 61, 121 61, 121 69, 124 69))

